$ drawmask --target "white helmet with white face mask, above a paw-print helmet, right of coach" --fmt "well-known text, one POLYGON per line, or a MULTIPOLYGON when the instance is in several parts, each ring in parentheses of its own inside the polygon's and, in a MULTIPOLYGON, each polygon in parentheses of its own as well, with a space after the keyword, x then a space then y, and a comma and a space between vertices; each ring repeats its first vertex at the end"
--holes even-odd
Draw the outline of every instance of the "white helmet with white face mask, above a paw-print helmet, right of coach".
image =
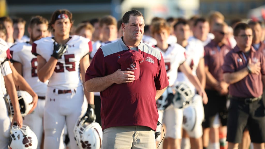
POLYGON ((187 106, 194 96, 194 92, 191 88, 185 83, 178 83, 175 86, 175 95, 173 98, 173 105, 175 108, 184 108, 187 106))

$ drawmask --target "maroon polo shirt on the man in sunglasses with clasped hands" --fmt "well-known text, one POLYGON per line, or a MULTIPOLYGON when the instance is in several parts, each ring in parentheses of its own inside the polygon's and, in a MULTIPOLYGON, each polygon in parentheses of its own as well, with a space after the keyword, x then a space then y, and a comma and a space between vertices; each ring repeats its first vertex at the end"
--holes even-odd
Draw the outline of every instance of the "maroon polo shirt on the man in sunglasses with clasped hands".
MULTIPOLYGON (((218 44, 212 40, 204 47, 204 63, 205 66, 208 66, 209 72, 217 81, 223 81, 223 70, 222 65, 224 63, 224 57, 231 50, 227 45, 222 45, 218 49, 218 44)), ((207 89, 213 89, 209 83, 206 82, 207 89)))

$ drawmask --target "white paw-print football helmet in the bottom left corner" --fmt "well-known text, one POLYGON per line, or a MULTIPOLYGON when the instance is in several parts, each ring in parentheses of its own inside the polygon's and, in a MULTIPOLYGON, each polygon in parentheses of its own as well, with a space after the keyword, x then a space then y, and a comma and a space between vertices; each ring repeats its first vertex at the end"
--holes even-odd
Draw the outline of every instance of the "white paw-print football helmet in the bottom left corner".
POLYGON ((10 129, 9 149, 36 149, 38 139, 29 126, 23 125, 22 128, 13 125, 10 129))

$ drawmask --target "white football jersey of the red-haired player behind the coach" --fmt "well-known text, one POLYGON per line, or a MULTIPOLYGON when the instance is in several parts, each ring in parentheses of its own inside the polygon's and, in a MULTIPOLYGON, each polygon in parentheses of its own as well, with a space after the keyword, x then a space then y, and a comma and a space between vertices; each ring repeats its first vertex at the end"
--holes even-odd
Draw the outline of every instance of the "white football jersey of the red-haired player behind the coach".
POLYGON ((186 60, 185 48, 178 43, 169 45, 165 52, 156 48, 161 51, 164 58, 169 86, 173 86, 176 83, 179 65, 186 60))

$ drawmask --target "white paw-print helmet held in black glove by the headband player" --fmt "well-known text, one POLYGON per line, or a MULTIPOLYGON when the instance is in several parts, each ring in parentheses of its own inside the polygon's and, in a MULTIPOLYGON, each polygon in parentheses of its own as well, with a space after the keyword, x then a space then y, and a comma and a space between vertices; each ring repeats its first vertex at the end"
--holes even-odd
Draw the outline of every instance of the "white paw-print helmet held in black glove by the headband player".
POLYGON ((89 123, 87 116, 77 120, 74 126, 74 138, 79 148, 100 149, 102 143, 102 128, 97 122, 89 123))

